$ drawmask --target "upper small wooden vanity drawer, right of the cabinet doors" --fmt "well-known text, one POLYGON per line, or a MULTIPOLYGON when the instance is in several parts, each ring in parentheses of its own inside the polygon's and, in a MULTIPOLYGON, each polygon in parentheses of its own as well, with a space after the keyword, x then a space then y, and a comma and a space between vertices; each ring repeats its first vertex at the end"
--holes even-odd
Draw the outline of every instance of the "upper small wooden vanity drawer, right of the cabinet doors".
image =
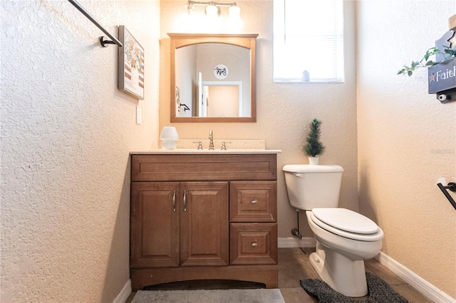
POLYGON ((276 222, 276 181, 232 181, 229 184, 231 222, 276 222))

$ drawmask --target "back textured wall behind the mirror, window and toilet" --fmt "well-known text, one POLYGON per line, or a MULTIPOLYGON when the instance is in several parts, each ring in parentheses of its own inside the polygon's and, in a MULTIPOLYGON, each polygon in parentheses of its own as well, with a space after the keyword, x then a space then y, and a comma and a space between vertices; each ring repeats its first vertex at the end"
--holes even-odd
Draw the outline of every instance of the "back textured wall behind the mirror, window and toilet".
MULTIPOLYGON (((186 1, 161 1, 160 7, 160 78, 169 79, 170 41, 166 33, 207 32, 212 27, 182 26, 186 1)), ((356 149, 356 74, 353 2, 346 5, 346 83, 280 84, 272 81, 272 1, 237 1, 241 8, 245 33, 259 33, 257 38, 257 123, 174 123, 182 139, 206 139, 209 129, 216 139, 266 139, 266 148, 281 149, 279 169, 279 237, 291 237, 296 227, 296 211, 286 196, 284 164, 306 164, 301 151, 307 125, 314 117, 323 121, 322 136, 326 152, 321 164, 340 164, 343 176, 341 206, 358 210, 356 149)), ((201 10, 199 6, 197 9, 201 10)), ((196 9, 195 9, 196 10, 196 9)), ((222 11, 227 16, 227 11, 222 11)), ((318 58, 316 60, 324 60, 318 58)), ((170 125, 170 85, 160 81, 160 129, 170 125)), ((207 148, 207 147, 205 147, 207 148)), ((311 231, 301 212, 301 231, 311 231)))

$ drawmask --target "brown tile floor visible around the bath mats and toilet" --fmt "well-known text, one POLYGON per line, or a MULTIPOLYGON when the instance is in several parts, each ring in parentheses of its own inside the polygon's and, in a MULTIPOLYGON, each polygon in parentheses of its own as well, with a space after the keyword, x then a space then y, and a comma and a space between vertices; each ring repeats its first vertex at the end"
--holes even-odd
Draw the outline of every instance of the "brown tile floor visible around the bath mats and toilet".
MULTIPOLYGON (((284 296, 286 303, 318 302, 315 297, 311 297, 299 285, 301 279, 318 279, 318 274, 309 262, 309 255, 315 251, 314 248, 279 248, 279 289, 284 296)), ((432 302, 408 285, 395 275, 388 268, 380 265, 375 260, 365 262, 366 271, 373 272, 385 282, 387 282, 396 292, 398 292, 410 303, 432 302)), ((155 286, 153 289, 214 289, 214 288, 254 288, 252 284, 242 284, 237 282, 223 283, 211 282, 180 282, 168 285, 155 286)), ((127 300, 130 303, 135 293, 132 293, 127 300)), ((363 297, 361 299, 366 299, 363 297)))

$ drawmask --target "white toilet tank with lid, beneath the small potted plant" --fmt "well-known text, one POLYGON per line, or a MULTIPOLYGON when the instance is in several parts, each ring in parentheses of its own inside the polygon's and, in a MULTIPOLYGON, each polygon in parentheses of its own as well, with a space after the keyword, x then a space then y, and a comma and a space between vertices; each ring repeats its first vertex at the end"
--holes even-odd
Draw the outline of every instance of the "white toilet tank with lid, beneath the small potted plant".
POLYGON ((285 165, 286 191, 291 206, 310 211, 317 207, 337 207, 343 168, 338 165, 285 165))

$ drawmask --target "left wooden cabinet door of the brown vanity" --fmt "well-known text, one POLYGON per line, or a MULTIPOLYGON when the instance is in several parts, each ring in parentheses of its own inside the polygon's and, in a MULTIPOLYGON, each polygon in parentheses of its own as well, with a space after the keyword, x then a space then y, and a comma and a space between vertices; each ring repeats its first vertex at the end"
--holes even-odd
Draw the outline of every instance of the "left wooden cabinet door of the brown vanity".
POLYGON ((130 266, 179 266, 178 182, 134 182, 131 188, 130 266))

